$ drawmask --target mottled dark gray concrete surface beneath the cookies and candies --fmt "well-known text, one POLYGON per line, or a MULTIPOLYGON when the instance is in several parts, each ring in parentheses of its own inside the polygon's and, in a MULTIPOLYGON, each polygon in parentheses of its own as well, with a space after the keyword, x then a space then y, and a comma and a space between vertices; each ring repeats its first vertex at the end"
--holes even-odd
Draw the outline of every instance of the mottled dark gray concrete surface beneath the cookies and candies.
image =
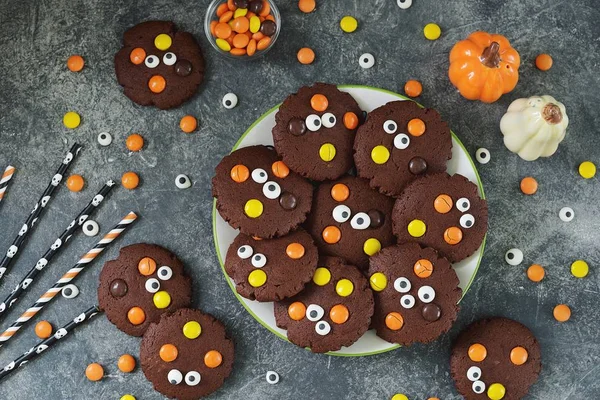
MULTIPOLYGON (((135 191, 116 189, 95 219, 102 231, 129 210, 138 211, 140 220, 81 276, 79 297, 57 299, 43 318, 62 324, 94 303, 102 263, 115 257, 120 246, 149 241, 171 248, 190 266, 195 305, 223 320, 235 338, 235 370, 212 398, 389 399, 401 392, 410 399, 457 399, 448 367, 451 340, 471 321, 493 315, 527 324, 540 340, 543 371, 528 398, 600 398, 598 181, 584 181, 577 174, 581 161, 600 162, 597 2, 414 0, 412 8, 403 11, 393 0, 317 0, 318 9, 310 15, 301 14, 295 0, 279 3, 284 21, 277 45, 267 57, 242 63, 219 57, 210 48, 202 29, 206 0, 0 0, 0 168, 8 163, 18 168, 0 204, 0 249, 8 248, 57 161, 74 141, 85 148, 72 172, 87 180, 82 193, 58 191, 2 282, 0 295, 8 294, 104 180, 135 170, 142 186, 135 191), (338 28, 346 14, 360 21, 358 31, 349 35, 338 28), (175 110, 133 104, 114 76, 113 54, 120 48, 124 30, 148 19, 175 21, 193 32, 205 51, 207 76, 202 89, 175 110), (443 29, 435 42, 422 35, 423 26, 432 21, 443 29), (505 34, 523 61, 516 90, 491 105, 464 100, 446 75, 452 45, 478 29, 505 34), (315 50, 313 65, 296 62, 295 53, 302 46, 315 50), (358 66, 363 52, 376 58, 370 70, 358 66), (540 52, 554 57, 549 72, 533 65, 540 52), (78 74, 65 67, 74 53, 86 59, 86 68, 78 74), (491 151, 491 163, 479 168, 490 206, 488 245, 480 272, 456 325, 435 343, 367 358, 313 355, 262 328, 236 301, 221 275, 211 232, 214 166, 256 118, 301 85, 326 81, 402 92, 409 78, 423 82, 419 101, 441 112, 471 154, 481 146, 491 151), (220 103, 229 91, 240 100, 233 110, 220 103), (498 123, 512 100, 540 94, 564 102, 571 125, 556 155, 525 162, 504 148, 498 123), (74 131, 62 125, 68 110, 78 111, 83 118, 74 131), (192 135, 178 129, 186 113, 200 119, 200 129, 192 135), (107 148, 96 142, 103 130, 114 138, 107 148), (124 139, 134 131, 147 144, 141 153, 129 155, 124 139), (179 173, 191 177, 191 189, 175 188, 179 173), (540 183, 535 196, 519 192, 519 180, 526 175, 540 183), (575 210, 571 223, 558 218, 565 205, 575 210), (523 250, 521 266, 504 263, 504 253, 511 247, 523 250), (591 265, 590 275, 583 280, 569 273, 571 261, 577 258, 591 265), (534 262, 546 267, 547 278, 540 284, 525 277, 526 266, 534 262), (553 320, 557 303, 571 305, 571 321, 553 320), (279 372, 279 384, 266 383, 267 370, 279 372)), ((73 240, 0 326, 8 326, 95 241, 83 235, 73 240)), ((0 350, 0 364, 35 342, 32 324, 0 350)), ((117 370, 118 356, 137 354, 138 345, 139 339, 125 336, 99 317, 0 383, 0 398, 119 399, 132 393, 140 400, 160 399, 141 370, 129 375, 117 370), (102 382, 84 377, 85 366, 93 361, 106 368, 102 382)))

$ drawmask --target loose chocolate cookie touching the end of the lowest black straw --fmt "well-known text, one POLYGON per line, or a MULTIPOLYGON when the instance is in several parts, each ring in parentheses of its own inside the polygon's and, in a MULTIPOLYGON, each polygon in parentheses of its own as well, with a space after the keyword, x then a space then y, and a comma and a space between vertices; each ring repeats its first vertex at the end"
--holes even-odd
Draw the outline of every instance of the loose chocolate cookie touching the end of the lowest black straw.
POLYGON ((123 247, 100 272, 100 308, 117 328, 142 336, 164 313, 190 305, 192 280, 175 254, 155 244, 123 247))

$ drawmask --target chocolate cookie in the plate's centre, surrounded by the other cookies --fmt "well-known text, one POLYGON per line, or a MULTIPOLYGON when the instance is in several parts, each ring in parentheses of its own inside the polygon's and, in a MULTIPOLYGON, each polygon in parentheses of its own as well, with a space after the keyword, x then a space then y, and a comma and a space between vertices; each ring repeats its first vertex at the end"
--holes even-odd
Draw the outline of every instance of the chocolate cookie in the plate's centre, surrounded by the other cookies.
POLYGON ((322 254, 366 270, 369 256, 394 243, 393 206, 394 199, 371 189, 366 179, 346 176, 319 185, 306 227, 322 254))

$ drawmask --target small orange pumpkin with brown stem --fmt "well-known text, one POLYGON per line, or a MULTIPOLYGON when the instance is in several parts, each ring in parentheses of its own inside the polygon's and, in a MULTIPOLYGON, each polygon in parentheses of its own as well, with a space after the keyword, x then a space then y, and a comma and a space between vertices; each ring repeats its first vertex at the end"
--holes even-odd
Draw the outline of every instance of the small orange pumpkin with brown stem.
POLYGON ((519 81, 519 53, 502 35, 473 32, 450 52, 450 82, 469 100, 493 103, 519 81))

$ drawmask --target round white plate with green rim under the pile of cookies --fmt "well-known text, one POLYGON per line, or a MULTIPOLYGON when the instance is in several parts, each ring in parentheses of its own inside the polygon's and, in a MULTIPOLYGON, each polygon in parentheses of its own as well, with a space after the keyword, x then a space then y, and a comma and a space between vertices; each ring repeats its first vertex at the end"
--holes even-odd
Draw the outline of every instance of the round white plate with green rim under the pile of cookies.
MULTIPOLYGON (((408 100, 406 97, 401 96, 397 93, 393 93, 384 89, 377 89, 368 86, 357 86, 357 85, 342 85, 339 89, 350 93, 354 99, 358 102, 361 109, 371 112, 373 109, 384 105, 394 100, 408 100)), ((250 128, 242 135, 240 140, 233 146, 233 150, 240 147, 253 146, 257 144, 273 145, 273 138, 271 136, 271 130, 275 126, 275 113, 279 108, 279 104, 265 114, 263 114, 257 121, 255 121, 250 128)), ((452 133, 452 159, 448 162, 448 173, 455 174, 459 173, 466 176, 473 183, 479 187, 479 192, 482 198, 485 198, 483 192, 483 186, 479 179, 479 174, 475 168, 473 160, 469 156, 469 153, 460 142, 460 140, 452 133)), ((221 269, 225 278, 229 283, 229 286, 238 300, 248 310, 248 312, 258 321, 262 326, 273 332, 280 338, 287 340, 286 331, 280 329, 275 324, 275 317, 273 315, 273 303, 259 303, 257 301, 248 300, 241 297, 235 291, 235 284, 227 274, 223 266, 223 260, 227 254, 229 245, 233 243, 233 240, 237 236, 238 231, 230 227, 227 222, 221 218, 213 204, 213 235, 215 240, 215 247, 217 250, 217 257, 221 264, 221 269)), ((471 257, 453 264, 458 279, 460 280, 460 287, 463 289, 463 296, 469 289, 481 257, 483 256, 483 248, 485 246, 485 238, 481 247, 471 257)), ((363 335, 356 343, 350 347, 344 347, 341 350, 334 351, 328 354, 336 356, 366 356, 372 354, 383 353, 400 347, 397 344, 386 342, 375 335, 374 330, 370 330, 363 335)))

